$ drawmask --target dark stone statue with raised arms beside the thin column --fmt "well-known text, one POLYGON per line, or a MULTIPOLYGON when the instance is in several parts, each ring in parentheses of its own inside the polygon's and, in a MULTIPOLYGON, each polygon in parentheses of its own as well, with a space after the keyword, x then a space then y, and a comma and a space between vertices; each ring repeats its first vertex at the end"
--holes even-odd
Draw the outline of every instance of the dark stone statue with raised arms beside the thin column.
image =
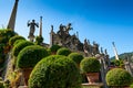
POLYGON ((30 26, 30 33, 29 33, 29 38, 30 37, 34 37, 34 31, 35 31, 35 26, 39 28, 39 24, 35 23, 35 20, 32 20, 32 22, 28 21, 28 26, 30 26))

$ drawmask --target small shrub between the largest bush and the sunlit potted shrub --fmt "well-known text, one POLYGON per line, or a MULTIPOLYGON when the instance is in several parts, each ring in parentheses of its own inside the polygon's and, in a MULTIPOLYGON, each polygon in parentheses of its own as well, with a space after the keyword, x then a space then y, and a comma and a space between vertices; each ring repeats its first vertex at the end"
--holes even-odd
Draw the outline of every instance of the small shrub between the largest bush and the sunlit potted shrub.
POLYGON ((69 55, 69 58, 74 61, 76 64, 80 64, 80 62, 83 59, 83 55, 81 55, 79 53, 71 53, 69 55))

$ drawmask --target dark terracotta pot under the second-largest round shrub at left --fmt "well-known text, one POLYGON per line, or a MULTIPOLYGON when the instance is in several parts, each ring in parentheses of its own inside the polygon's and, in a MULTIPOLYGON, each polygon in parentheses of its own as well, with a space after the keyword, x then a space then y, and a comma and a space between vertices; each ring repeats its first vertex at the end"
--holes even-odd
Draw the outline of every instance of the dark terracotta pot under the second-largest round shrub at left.
POLYGON ((28 86, 29 76, 30 76, 32 69, 33 68, 22 68, 22 74, 23 74, 23 77, 24 77, 25 86, 28 86))

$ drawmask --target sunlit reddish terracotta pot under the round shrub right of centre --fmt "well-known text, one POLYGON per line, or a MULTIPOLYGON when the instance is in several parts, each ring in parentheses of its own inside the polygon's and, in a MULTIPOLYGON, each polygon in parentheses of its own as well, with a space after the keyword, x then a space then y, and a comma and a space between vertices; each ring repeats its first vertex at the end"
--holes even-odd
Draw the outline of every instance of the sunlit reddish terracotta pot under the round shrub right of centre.
POLYGON ((88 73, 86 78, 89 80, 89 84, 99 82, 99 73, 88 73))

